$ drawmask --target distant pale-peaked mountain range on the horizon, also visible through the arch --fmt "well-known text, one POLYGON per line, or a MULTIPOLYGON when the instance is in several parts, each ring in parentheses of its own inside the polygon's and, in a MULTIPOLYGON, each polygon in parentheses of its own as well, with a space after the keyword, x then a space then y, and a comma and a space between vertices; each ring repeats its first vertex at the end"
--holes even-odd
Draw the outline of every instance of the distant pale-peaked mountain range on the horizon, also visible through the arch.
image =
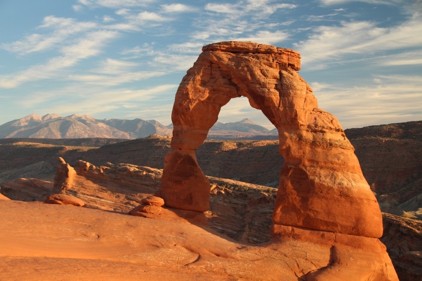
MULTIPOLYGON (((59 116, 55 113, 38 116, 31 114, 0 125, 0 138, 125 138, 134 139, 151 134, 171 135, 173 126, 156 120, 95 119, 89 115, 59 116)), ((267 128, 245 118, 238 122, 216 124, 209 130, 214 138, 253 138, 277 135, 267 128)))

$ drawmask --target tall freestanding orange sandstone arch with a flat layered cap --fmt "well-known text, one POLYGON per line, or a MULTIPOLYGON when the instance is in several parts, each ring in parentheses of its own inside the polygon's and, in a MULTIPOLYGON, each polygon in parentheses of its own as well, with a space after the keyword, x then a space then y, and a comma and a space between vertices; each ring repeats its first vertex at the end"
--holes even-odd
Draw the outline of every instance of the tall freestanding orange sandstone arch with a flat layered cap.
POLYGON ((202 48, 177 90, 174 149, 165 159, 161 196, 169 207, 205 211, 209 182, 195 150, 231 98, 246 96, 279 132, 285 163, 273 211, 277 226, 382 235, 377 201, 362 175, 354 148, 338 120, 319 109, 299 76, 300 55, 252 42, 221 42, 202 48))

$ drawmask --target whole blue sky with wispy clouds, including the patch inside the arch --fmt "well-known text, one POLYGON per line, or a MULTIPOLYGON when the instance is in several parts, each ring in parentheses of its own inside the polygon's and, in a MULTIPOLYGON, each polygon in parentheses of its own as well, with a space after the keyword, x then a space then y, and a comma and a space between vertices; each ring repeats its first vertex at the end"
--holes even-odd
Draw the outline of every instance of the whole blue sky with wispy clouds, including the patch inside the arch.
MULTIPOLYGON (((35 113, 171 122, 203 45, 297 50, 344 128, 422 120, 422 1, 0 0, 0 124, 35 113)), ((271 123, 246 98, 221 122, 271 123)))

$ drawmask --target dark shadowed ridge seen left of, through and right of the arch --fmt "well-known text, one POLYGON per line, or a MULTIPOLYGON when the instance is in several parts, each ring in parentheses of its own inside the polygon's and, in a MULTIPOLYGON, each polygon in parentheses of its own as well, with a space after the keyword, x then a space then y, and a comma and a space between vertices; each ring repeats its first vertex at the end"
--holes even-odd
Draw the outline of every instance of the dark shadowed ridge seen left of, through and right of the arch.
MULTIPOLYGON (((421 127, 422 121, 413 121, 345 130, 384 212, 404 214, 400 212, 417 211, 417 208, 404 207, 420 206, 421 127), (406 126, 411 133, 389 138, 377 133, 385 130, 384 127, 400 126, 406 126)), ((111 162, 163 169, 162 159, 170 149, 170 137, 153 135, 122 141, 124 139, 0 139, 0 183, 20 177, 52 180, 58 157, 71 165, 83 159, 96 166, 111 162)), ((269 187, 278 185, 283 164, 278 141, 209 140, 196 154, 206 175, 269 187)))

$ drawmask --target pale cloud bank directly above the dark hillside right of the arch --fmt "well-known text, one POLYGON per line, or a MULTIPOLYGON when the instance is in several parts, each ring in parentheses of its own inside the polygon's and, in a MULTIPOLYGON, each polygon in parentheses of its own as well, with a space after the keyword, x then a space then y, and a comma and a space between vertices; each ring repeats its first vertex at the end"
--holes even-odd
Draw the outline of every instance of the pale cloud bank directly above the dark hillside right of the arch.
MULTIPOLYGON (((363 86, 325 84, 314 88, 319 106, 333 113, 344 128, 422 119, 422 77, 377 75, 363 86)), ((313 85, 313 83, 311 83, 313 85)))

